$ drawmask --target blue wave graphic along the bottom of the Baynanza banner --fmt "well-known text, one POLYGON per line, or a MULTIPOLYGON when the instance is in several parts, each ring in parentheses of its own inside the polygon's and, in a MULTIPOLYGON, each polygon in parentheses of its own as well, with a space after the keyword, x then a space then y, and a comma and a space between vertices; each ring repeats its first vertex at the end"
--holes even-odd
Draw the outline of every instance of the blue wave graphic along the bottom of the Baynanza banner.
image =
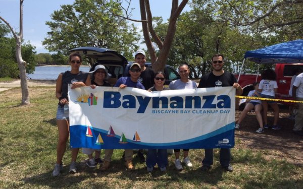
POLYGON ((203 149, 203 148, 233 148, 234 147, 234 125, 229 123, 224 127, 196 138, 173 143, 144 143, 125 139, 120 143, 121 136, 108 137, 106 130, 91 128, 87 125, 73 125, 70 127, 71 148, 92 149, 203 149), (86 137, 84 133, 91 130, 91 136, 86 137), (97 143, 97 142, 98 143, 97 143))

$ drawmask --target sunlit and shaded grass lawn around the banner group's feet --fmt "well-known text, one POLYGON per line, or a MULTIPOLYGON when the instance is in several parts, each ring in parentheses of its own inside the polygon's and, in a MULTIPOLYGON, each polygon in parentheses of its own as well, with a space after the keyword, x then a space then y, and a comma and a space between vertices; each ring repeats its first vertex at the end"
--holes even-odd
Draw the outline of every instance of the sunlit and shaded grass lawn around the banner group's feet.
POLYGON ((219 150, 214 150, 210 172, 201 171, 204 150, 195 149, 189 152, 193 168, 183 171, 174 169, 173 155, 166 173, 158 168, 147 173, 137 157, 133 160, 136 169, 127 171, 121 160, 123 151, 115 150, 108 171, 87 168, 87 156, 79 153, 78 172, 68 174, 71 151, 67 149, 63 172, 53 177, 58 135, 55 88, 31 87, 29 91, 31 104, 27 106, 20 106, 20 88, 0 93, 0 188, 303 188, 301 164, 281 158, 278 152, 237 146, 245 142, 238 138, 232 149, 231 173, 221 168, 219 150))

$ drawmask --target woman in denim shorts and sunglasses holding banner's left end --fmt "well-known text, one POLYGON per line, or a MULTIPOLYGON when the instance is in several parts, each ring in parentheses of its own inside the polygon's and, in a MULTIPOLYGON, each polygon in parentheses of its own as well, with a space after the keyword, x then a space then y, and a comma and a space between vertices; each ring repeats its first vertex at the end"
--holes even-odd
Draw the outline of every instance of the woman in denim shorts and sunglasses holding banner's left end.
MULTIPOLYGON (((72 84, 71 89, 90 85, 88 73, 79 71, 82 63, 81 55, 77 52, 71 53, 69 56, 69 63, 71 65, 71 71, 59 74, 56 83, 56 97, 59 99, 56 116, 59 140, 57 144, 57 162, 53 171, 53 176, 59 176, 63 168, 62 158, 69 137, 68 85, 72 84)), ((78 152, 79 148, 72 149, 72 161, 69 168, 70 173, 75 173, 77 171, 76 159, 78 152)))

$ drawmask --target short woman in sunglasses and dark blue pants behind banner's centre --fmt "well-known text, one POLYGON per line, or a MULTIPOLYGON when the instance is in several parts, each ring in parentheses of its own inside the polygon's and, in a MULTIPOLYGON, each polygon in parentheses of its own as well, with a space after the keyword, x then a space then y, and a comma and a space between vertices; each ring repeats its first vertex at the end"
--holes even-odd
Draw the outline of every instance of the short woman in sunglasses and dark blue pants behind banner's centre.
MULTIPOLYGON (((149 88, 148 91, 170 90, 168 87, 164 87, 165 75, 163 72, 156 73, 154 82, 155 85, 149 88)), ((158 164, 162 172, 166 171, 166 166, 168 165, 167 149, 148 149, 146 156, 147 171, 153 171, 156 164, 158 164)))

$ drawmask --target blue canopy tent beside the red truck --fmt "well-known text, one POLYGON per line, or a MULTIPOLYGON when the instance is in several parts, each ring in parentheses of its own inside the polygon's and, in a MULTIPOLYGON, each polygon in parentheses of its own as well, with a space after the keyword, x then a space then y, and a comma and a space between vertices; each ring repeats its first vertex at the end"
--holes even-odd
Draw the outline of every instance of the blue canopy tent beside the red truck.
POLYGON ((303 40, 299 39, 267 46, 257 50, 246 51, 238 81, 242 73, 245 59, 249 59, 250 61, 254 61, 259 64, 258 72, 260 64, 303 63, 303 40))

